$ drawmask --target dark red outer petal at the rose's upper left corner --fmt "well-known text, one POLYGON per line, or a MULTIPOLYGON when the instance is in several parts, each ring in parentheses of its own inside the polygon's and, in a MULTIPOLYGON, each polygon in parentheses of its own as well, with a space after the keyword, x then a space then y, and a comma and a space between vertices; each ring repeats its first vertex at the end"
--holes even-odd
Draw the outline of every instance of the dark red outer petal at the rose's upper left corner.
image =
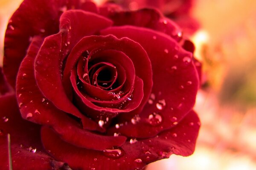
MULTIPOLYGON (((58 32, 61 14, 71 8, 87 10, 93 7, 81 0, 24 0, 9 20, 4 44, 3 70, 8 82, 15 87, 20 62, 26 56, 31 37, 58 32)), ((97 11, 96 7, 90 10, 97 11)))

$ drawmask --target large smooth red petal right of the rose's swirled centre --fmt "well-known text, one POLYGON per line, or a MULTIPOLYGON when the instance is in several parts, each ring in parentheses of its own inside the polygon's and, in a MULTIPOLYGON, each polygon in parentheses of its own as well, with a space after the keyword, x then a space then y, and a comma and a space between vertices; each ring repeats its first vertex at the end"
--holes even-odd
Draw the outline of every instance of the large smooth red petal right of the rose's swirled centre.
POLYGON ((101 33, 128 37, 139 42, 148 53, 153 71, 151 93, 154 97, 140 113, 140 122, 134 125, 132 121, 123 120, 124 117, 120 115, 119 122, 129 122, 110 131, 144 138, 177 125, 194 106, 198 90, 198 74, 192 54, 183 50, 169 36, 146 28, 111 27, 101 33))

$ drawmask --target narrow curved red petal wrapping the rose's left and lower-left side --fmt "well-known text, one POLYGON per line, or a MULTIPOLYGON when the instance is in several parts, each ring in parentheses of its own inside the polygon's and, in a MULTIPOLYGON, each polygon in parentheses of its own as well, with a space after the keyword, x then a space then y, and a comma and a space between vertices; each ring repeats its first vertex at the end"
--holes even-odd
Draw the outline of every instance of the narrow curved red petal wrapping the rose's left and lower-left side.
MULTIPOLYGON (((38 124, 52 127, 64 141, 70 142, 80 147, 104 150, 105 147, 122 145, 126 138, 124 136, 101 136, 87 130, 83 130, 79 122, 73 120, 67 113, 58 110, 41 94, 35 82, 34 59, 42 43, 41 37, 34 37, 29 47, 28 55, 23 59, 17 76, 17 101, 21 115, 38 124), (84 139, 93 139, 98 142, 90 142, 84 139)), ((96 122, 88 119, 84 115, 84 129, 98 130, 96 122)))

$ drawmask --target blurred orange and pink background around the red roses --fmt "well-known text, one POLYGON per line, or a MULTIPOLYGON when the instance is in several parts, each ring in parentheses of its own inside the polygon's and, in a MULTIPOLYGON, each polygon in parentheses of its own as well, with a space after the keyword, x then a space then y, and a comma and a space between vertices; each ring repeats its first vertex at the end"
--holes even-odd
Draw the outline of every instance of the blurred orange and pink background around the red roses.
MULTIPOLYGON (((9 17, 21 1, 0 0, 0 61, 9 17)), ((256 170, 256 1, 195 0, 192 16, 201 24, 191 39, 204 73, 195 153, 147 170, 256 170)))

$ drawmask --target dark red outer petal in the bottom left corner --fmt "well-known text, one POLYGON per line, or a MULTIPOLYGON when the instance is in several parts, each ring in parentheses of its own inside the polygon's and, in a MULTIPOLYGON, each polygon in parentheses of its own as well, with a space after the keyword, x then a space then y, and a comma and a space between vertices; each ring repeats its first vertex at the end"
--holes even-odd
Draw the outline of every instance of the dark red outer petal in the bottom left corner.
POLYGON ((50 161, 52 158, 44 152, 44 148, 42 147, 40 126, 23 120, 20 117, 15 95, 0 97, 0 109, 1 169, 9 170, 8 133, 11 136, 12 164, 14 170, 51 169, 50 161))

